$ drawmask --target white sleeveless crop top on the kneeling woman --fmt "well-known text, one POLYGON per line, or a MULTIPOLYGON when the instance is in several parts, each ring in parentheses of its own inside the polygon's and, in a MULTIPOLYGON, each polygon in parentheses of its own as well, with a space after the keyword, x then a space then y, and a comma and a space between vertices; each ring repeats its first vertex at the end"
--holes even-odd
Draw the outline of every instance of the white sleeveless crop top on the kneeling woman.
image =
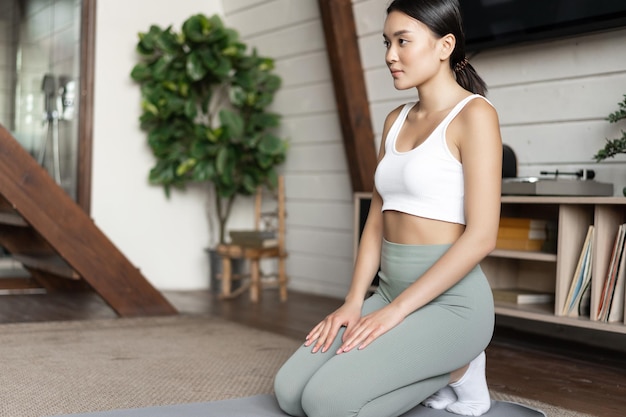
POLYGON ((410 151, 399 152, 398 133, 415 105, 405 104, 389 129, 385 156, 374 177, 383 211, 465 224, 463 167, 448 149, 446 131, 463 107, 476 97, 484 99, 474 94, 461 100, 424 142, 410 151))

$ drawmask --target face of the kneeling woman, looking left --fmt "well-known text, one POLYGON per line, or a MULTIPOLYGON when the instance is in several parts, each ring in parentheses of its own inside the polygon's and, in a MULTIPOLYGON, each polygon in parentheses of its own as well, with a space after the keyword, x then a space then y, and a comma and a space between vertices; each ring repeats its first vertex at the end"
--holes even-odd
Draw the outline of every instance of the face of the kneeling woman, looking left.
POLYGON ((420 86, 440 70, 438 39, 422 22, 393 11, 385 19, 383 38, 385 61, 398 90, 420 86))

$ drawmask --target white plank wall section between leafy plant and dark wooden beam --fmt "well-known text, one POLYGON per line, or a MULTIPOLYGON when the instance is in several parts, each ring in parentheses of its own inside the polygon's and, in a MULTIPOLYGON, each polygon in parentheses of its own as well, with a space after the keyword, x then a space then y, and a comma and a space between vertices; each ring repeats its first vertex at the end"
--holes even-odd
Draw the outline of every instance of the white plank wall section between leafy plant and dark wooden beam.
POLYGON ((226 22, 273 57, 273 109, 290 141, 283 167, 291 289, 343 296, 352 272, 352 189, 317 0, 228 0, 226 22))

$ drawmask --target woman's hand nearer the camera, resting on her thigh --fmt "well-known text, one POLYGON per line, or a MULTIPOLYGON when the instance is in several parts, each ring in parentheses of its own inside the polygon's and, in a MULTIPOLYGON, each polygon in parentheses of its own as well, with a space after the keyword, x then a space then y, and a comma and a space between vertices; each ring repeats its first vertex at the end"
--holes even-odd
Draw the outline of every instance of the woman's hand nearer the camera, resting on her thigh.
POLYGON ((364 349, 379 336, 387 333, 404 320, 404 314, 393 304, 362 317, 354 326, 346 329, 343 344, 337 354, 353 348, 364 349))

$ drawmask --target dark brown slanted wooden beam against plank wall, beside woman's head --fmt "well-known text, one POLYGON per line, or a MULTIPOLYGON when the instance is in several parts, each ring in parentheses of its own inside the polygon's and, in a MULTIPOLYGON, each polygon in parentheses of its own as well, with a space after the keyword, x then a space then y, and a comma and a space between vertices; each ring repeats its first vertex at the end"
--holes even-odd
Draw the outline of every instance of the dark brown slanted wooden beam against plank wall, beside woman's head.
POLYGON ((372 191, 376 146, 352 0, 319 0, 352 190, 372 191))

